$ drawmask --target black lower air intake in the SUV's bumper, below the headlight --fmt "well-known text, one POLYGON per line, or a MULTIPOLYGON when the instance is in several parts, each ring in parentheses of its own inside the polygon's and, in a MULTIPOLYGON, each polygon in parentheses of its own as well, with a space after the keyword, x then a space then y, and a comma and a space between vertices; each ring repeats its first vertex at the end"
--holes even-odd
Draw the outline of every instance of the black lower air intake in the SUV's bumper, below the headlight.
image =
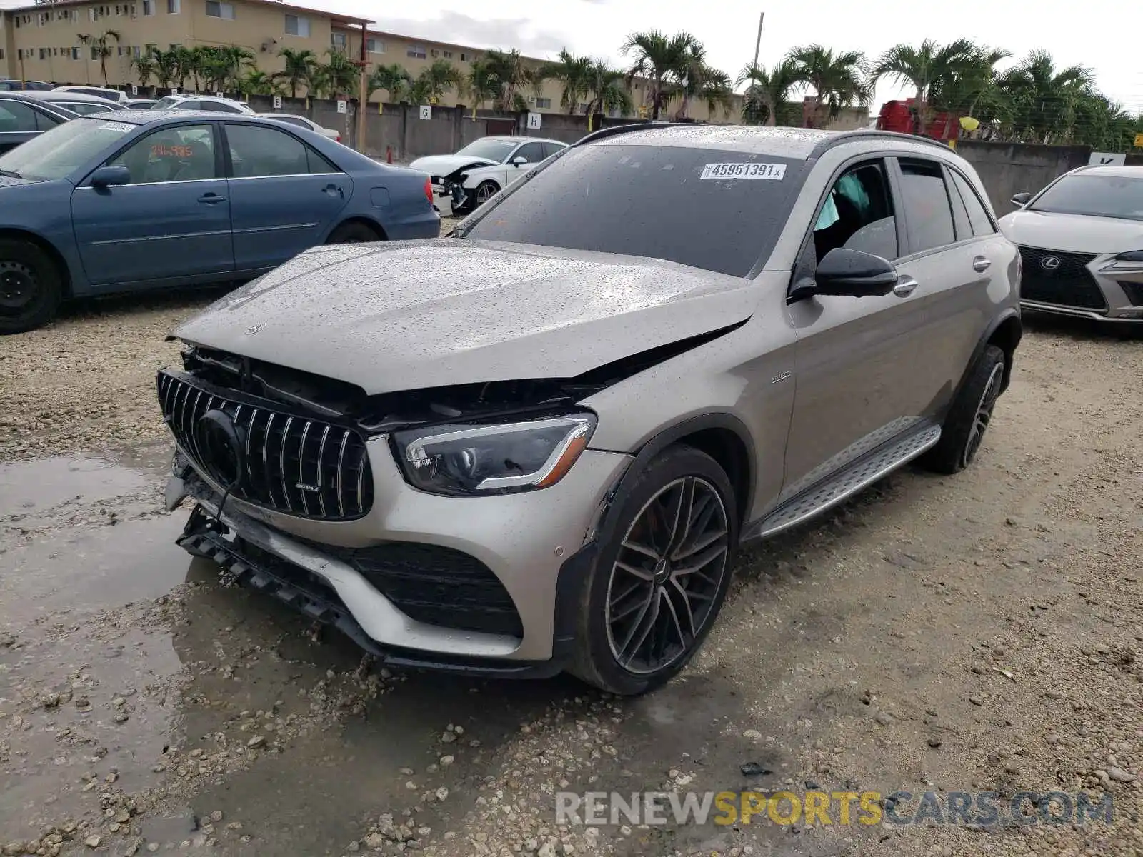
POLYGON ((512 596, 474 556, 413 542, 320 547, 354 568, 411 619, 457 631, 523 636, 512 596))

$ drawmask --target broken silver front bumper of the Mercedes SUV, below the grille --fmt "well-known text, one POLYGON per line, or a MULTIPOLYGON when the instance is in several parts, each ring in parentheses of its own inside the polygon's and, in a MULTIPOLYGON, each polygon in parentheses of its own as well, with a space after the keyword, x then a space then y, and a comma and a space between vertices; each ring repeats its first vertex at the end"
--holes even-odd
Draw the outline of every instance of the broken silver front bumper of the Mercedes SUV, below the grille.
MULTIPOLYGON (((583 511, 590 516, 590 510, 599 505, 630 460, 625 456, 599 455, 605 456, 605 460, 597 462, 593 479, 604 476, 601 483, 591 487, 593 480, 586 480, 586 483, 575 486, 576 480, 569 480, 566 487, 569 492, 555 490, 559 486, 545 489, 543 494, 551 491, 550 502, 554 507, 549 508, 549 504, 533 499, 535 512, 530 521, 512 514, 512 510, 520 506, 497 505, 497 508, 504 508, 507 520, 489 519, 489 526, 481 528, 489 540, 487 546, 490 552, 501 556, 526 556, 527 552, 521 553, 513 542, 522 547, 539 535, 536 529, 529 532, 529 523, 541 528, 549 524, 553 513, 568 515, 570 510, 565 506, 568 500, 573 505, 586 506, 583 511), (601 468, 599 465, 602 465, 601 468), (505 538, 512 540, 505 542, 505 538)), ((581 475, 591 470, 589 464, 581 475)), ((323 528, 315 528, 312 521, 301 522, 310 524, 303 537, 285 529, 297 522, 296 519, 290 521, 288 516, 272 515, 270 521, 256 520, 243 510, 247 504, 233 497, 223 502, 221 491, 207 483, 181 452, 176 454, 173 472, 167 486, 168 508, 174 508, 185 498, 195 503, 178 540, 185 550, 214 560, 238 583, 271 594, 304 615, 337 627, 379 659, 397 666, 503 676, 547 675, 563 667, 575 636, 580 585, 594 560, 596 546, 588 529, 580 530, 581 536, 575 544, 561 540, 568 544, 569 550, 559 559, 553 556, 555 562, 550 570, 533 566, 490 564, 490 571, 506 585, 512 603, 518 608, 522 636, 461 630, 443 623, 433 624, 435 614, 431 609, 427 612, 424 609, 411 611, 411 616, 402 611, 402 602, 386 598, 370 583, 375 578, 367 579, 359 566, 345 559, 346 551, 369 551, 368 545, 338 547, 336 538, 326 544, 319 536, 323 528)), ((419 495, 422 499, 426 496, 419 495)), ((440 499, 457 503, 456 498, 440 499)), ((472 502, 496 504, 497 499, 502 498, 472 502)), ((486 510, 490 508, 486 506, 486 510)), ((472 510, 475 512, 475 507, 472 510)), ((441 543, 466 529, 471 530, 471 526, 457 524, 456 508, 442 508, 440 512, 423 524, 438 528, 441 543)), ((398 538, 399 534, 385 531, 384 520, 377 523, 382 526, 371 528, 374 531, 369 540, 375 540, 377 545, 410 544, 390 540, 398 538)), ((333 530, 334 527, 330 527, 333 530)), ((555 534, 551 536, 555 537, 555 534)), ((414 544, 423 546, 422 542, 414 544)), ((426 577, 439 571, 439 567, 424 569, 426 577)), ((409 572, 406 566, 402 569, 406 578, 409 572)), ((413 570, 413 574, 416 571, 413 570)))

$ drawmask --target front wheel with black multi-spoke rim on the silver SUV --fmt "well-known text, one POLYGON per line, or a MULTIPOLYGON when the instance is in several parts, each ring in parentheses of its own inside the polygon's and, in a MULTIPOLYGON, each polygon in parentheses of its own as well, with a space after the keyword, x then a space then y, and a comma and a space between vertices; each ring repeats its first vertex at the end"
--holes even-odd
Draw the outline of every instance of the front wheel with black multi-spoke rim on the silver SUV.
POLYGON ((718 463, 676 446, 652 460, 616 514, 581 592, 569 671, 633 696, 677 675, 710 633, 730 582, 738 513, 718 463))

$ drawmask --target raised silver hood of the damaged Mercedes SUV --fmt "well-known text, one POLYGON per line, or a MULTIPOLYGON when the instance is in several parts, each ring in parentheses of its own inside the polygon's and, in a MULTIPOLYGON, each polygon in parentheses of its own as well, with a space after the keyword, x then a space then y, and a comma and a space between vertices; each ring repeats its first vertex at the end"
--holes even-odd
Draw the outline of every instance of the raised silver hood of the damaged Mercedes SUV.
POLYGON ((333 245, 174 336, 376 393, 572 378, 745 320, 749 281, 657 259, 467 239, 333 245))

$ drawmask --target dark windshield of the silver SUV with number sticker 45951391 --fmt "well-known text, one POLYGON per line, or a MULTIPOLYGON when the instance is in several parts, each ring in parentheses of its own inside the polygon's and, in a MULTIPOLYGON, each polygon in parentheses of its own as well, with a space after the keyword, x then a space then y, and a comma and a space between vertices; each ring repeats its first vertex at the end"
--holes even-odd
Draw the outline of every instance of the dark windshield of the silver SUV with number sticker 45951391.
POLYGON ((742 152, 593 143, 521 181, 463 237, 744 277, 774 248, 804 166, 742 152))

